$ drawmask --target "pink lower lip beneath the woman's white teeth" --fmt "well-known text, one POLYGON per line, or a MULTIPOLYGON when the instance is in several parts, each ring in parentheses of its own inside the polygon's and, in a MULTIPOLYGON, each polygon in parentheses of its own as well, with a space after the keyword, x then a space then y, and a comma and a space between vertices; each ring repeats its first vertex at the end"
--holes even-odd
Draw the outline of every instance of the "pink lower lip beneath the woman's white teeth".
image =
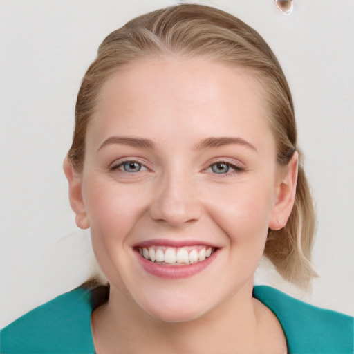
POLYGON ((216 253, 218 252, 213 252, 212 255, 207 257, 204 261, 186 265, 162 265, 159 263, 153 263, 142 257, 138 252, 136 252, 136 257, 138 257, 138 261, 142 265, 142 268, 144 268, 146 272, 156 275, 156 277, 165 279, 183 279, 192 277, 194 274, 207 268, 207 266, 216 258, 216 253))

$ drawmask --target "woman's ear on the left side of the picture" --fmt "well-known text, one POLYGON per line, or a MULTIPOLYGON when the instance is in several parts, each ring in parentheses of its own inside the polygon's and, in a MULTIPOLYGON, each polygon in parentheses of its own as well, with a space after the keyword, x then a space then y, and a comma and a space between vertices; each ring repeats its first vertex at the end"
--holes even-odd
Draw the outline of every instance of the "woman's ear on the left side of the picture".
POLYGON ((66 157, 63 164, 64 174, 69 183, 69 200, 71 209, 76 214, 75 222, 80 229, 88 229, 90 222, 82 198, 82 175, 75 171, 73 165, 66 157))

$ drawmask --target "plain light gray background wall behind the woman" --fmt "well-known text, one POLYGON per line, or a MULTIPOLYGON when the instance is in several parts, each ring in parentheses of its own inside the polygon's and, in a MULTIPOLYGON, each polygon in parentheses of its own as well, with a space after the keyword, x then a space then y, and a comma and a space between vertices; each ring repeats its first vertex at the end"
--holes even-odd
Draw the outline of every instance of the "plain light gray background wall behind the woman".
MULTIPOLYGON (((203 1, 253 26, 279 58, 317 201, 321 277, 312 292, 282 281, 268 262, 256 281, 354 315, 354 1, 294 2, 286 16, 273 0, 203 1)), ((109 32, 174 3, 0 0, 0 327, 93 271, 62 173, 80 80, 109 32)))

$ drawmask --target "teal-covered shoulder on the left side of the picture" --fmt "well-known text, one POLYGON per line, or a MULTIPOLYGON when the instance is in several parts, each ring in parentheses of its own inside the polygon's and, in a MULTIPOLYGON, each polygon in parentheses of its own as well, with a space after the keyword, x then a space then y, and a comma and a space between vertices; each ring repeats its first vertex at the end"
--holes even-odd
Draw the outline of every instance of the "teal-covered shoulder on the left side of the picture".
POLYGON ((91 292, 77 288, 1 330, 1 353, 93 353, 91 292))

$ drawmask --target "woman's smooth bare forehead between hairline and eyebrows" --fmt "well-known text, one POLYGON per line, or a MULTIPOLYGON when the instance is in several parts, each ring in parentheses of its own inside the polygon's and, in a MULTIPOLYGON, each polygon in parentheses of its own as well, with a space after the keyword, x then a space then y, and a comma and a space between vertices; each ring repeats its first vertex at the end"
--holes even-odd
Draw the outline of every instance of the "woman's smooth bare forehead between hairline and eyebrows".
POLYGON ((160 138, 179 132, 194 138, 230 132, 252 138, 269 131, 264 95, 257 77, 241 68, 205 58, 150 58, 111 75, 88 133, 94 131, 97 139, 115 129, 160 138))

